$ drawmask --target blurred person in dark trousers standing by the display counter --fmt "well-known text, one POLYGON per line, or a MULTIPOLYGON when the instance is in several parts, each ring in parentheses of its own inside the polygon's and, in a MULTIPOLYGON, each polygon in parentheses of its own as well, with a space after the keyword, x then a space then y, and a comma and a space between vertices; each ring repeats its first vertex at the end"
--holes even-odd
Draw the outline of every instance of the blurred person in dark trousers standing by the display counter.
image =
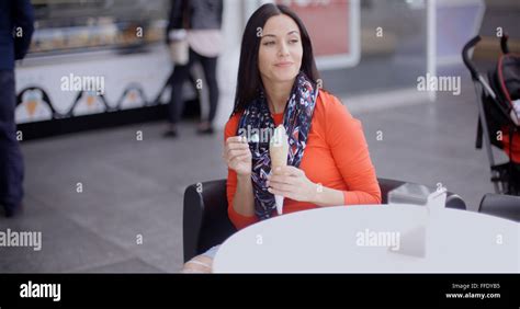
POLYGON ((166 137, 177 137, 177 124, 183 107, 182 85, 190 76, 190 69, 200 62, 204 70, 205 84, 210 93, 210 113, 199 124, 199 134, 213 134, 213 119, 218 104, 216 79, 217 57, 223 47, 221 33, 223 0, 172 0, 167 44, 174 64, 171 77, 171 99, 169 104, 169 125, 166 137))

